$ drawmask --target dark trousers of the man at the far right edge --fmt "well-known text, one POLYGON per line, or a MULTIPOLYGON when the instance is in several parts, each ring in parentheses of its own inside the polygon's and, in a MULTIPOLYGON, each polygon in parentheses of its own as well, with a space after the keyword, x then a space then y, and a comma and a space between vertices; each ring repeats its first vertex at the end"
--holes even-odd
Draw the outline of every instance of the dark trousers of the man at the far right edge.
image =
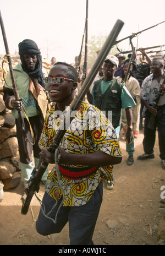
POLYGON ((156 128, 158 130, 158 143, 160 147, 160 158, 165 159, 165 105, 158 108, 155 118, 154 129, 147 128, 151 113, 149 110, 145 112, 145 128, 143 146, 146 154, 153 153, 153 147, 156 139, 156 128))

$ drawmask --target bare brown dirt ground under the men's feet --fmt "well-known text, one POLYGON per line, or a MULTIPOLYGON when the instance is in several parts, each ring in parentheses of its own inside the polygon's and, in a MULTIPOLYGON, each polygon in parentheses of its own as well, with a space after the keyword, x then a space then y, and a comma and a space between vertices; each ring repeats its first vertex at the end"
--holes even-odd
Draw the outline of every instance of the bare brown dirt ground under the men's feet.
MULTIPOLYGON (((123 160, 114 166, 114 189, 103 188, 103 202, 93 241, 95 245, 155 245, 157 228, 163 214, 158 208, 161 186, 165 185, 165 170, 161 167, 158 138, 155 159, 139 161, 143 131, 135 139, 134 164, 127 165, 125 142, 120 138, 123 160)), ((35 230, 40 203, 35 198, 27 215, 21 215, 23 182, 17 188, 4 191, 0 203, 1 245, 68 245, 68 224, 62 232, 41 236, 35 230)), ((44 187, 38 197, 42 200, 44 187)))

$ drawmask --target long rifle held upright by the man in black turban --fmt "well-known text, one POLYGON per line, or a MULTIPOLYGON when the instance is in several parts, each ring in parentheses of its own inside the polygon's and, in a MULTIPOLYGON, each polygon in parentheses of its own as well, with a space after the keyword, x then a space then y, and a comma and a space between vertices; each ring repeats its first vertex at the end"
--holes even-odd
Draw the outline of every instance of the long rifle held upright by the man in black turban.
MULTIPOLYGON (((5 30, 4 30, 4 24, 3 24, 3 19, 2 19, 2 15, 1 15, 1 10, 0 10, 0 23, 1 23, 2 36, 3 36, 4 46, 5 46, 5 52, 6 52, 5 56, 7 56, 7 59, 8 59, 10 77, 12 79, 12 84, 13 84, 14 97, 15 97, 15 100, 19 101, 20 99, 19 99, 19 95, 18 95, 17 86, 15 84, 12 61, 10 58, 10 52, 9 52, 7 37, 5 34, 5 30)), ((29 145, 28 145, 26 133, 25 133, 25 123, 24 123, 24 118, 23 118, 23 114, 22 114, 21 110, 18 110, 18 119, 19 119, 19 124, 20 124, 21 130, 23 132, 23 137, 25 140, 26 156, 27 156, 27 159, 29 161, 31 161, 32 159, 31 159, 31 155, 30 155, 30 149, 29 149, 29 145)))

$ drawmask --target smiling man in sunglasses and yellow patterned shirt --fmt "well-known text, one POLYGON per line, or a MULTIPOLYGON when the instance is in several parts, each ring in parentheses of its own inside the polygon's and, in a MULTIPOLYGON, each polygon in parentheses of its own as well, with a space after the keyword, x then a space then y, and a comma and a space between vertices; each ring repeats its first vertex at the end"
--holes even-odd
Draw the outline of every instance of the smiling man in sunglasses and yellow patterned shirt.
POLYGON ((41 235, 59 233, 69 221, 70 245, 94 244, 94 233, 102 203, 102 177, 113 177, 113 166, 122 161, 112 124, 93 105, 83 101, 65 133, 58 152, 47 147, 67 119, 74 99, 78 74, 74 67, 58 62, 45 79, 52 102, 40 138, 40 162, 55 164, 46 183, 46 192, 36 222, 41 235), (53 207, 54 206, 54 207, 53 207), (49 218, 49 219, 48 219, 49 218))

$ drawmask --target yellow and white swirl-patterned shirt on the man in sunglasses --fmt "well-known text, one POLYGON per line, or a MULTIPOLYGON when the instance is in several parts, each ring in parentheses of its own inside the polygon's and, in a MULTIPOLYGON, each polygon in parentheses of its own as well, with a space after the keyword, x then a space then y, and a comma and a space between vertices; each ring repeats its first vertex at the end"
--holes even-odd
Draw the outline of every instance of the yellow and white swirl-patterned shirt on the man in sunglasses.
MULTIPOLYGON (((53 143, 59 127, 63 125, 63 118, 67 120, 70 115, 70 106, 68 106, 62 115, 57 110, 57 105, 53 106, 47 112, 45 126, 42 130, 39 141, 40 148, 45 148, 53 143)), ((109 155, 122 157, 116 132, 111 122, 98 110, 97 107, 83 101, 79 110, 76 111, 75 118, 70 123, 70 127, 64 134, 59 144, 61 148, 70 154, 91 154, 99 149, 109 155)), ((69 167, 85 167, 82 165, 72 165, 69 167)), ((68 166, 66 166, 68 167, 68 166)), ((95 192, 102 177, 113 180, 113 166, 99 167, 95 174, 82 179, 69 179, 59 172, 61 186, 57 178, 56 165, 48 175, 46 192, 54 198, 63 197, 63 206, 80 206, 89 201, 95 192)))

